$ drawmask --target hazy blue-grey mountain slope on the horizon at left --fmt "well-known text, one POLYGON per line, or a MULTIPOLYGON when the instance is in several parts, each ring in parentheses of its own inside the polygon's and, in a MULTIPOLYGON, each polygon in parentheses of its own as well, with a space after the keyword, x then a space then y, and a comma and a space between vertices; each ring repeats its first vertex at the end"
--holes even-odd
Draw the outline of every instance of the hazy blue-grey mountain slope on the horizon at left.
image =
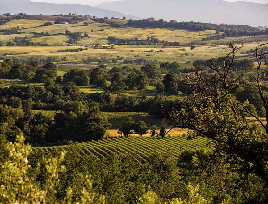
MULTIPOLYGON (((40 0, 41 1, 41 0, 40 0)), ((75 1, 74 1, 75 2, 75 1)), ((92 15, 97 17, 107 16, 123 18, 126 16, 128 19, 140 19, 136 16, 125 15, 124 12, 115 12, 110 10, 104 10, 101 8, 94 8, 88 5, 80 4, 54 4, 44 2, 32 2, 29 0, 0 0, 0 15, 4 13, 18 14, 69 14, 77 13, 78 15, 92 15)))

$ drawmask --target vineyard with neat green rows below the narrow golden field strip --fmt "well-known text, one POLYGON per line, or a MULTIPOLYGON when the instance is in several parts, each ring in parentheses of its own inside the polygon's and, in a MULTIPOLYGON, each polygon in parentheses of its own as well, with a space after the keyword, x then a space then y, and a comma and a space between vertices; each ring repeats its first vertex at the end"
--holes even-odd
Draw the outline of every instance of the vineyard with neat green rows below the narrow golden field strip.
POLYGON ((194 140, 187 140, 185 135, 181 136, 167 136, 162 139, 152 137, 114 137, 92 142, 83 142, 74 145, 64 145, 58 147, 36 147, 34 152, 55 152, 57 150, 70 150, 73 147, 77 149, 80 154, 94 154, 100 158, 106 157, 110 154, 125 155, 129 154, 133 158, 145 162, 150 156, 155 154, 168 154, 171 157, 178 159, 182 151, 189 149, 209 148, 207 140, 204 138, 197 138, 194 140))

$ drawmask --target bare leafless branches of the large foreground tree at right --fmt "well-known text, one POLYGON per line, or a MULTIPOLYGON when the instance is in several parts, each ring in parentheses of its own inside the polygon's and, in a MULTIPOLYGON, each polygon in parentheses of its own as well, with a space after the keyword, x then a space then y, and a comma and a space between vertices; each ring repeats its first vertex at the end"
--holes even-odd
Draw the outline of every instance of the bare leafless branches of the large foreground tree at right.
MULTIPOLYGON (((228 90, 228 79, 230 73, 232 72, 232 65, 235 61, 235 54, 243 47, 244 45, 242 43, 233 45, 230 42, 230 52, 222 58, 222 62, 219 62, 218 58, 211 59, 206 64, 203 64, 203 66, 196 64, 193 69, 194 74, 186 74, 188 83, 185 84, 184 89, 186 89, 188 95, 191 95, 191 97, 188 97, 186 101, 186 111, 191 112, 191 110, 195 108, 200 109, 203 106, 206 106, 207 99, 211 99, 215 107, 218 109, 220 108, 220 104, 226 99, 222 98, 219 90, 228 90), (221 64, 221 66, 219 66, 219 64, 221 64), (214 74, 212 76, 206 75, 205 70, 207 69, 214 70, 214 74)), ((168 109, 163 95, 155 95, 155 97, 157 103, 164 110, 158 114, 166 115, 165 123, 167 125, 171 125, 171 129, 190 129, 201 134, 206 134, 206 131, 203 129, 202 125, 196 126, 195 123, 193 123, 193 118, 191 118, 191 115, 185 119, 181 118, 179 125, 176 124, 177 121, 176 117, 174 116, 176 115, 177 109, 168 109)), ((237 115, 237 109, 234 107, 234 105, 232 107, 232 111, 237 115)), ((213 122, 213 120, 211 121, 213 122)), ((167 132, 167 134, 168 133, 169 132, 167 132)))

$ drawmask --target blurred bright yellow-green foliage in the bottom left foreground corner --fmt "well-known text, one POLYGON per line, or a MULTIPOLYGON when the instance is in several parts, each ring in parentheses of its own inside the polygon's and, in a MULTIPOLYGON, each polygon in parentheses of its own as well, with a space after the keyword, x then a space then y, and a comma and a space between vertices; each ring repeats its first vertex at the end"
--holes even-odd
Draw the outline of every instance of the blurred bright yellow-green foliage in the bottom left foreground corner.
MULTIPOLYGON (((0 172, 0 198, 4 203, 60 203, 56 198, 57 188, 60 183, 60 174, 66 172, 61 163, 64 161, 66 152, 61 152, 57 157, 45 159, 45 182, 42 186, 38 182, 37 175, 40 173, 40 163, 35 169, 29 165, 28 156, 31 154, 31 146, 24 144, 22 135, 17 137, 15 143, 7 145, 9 156, 1 166, 0 172), (30 173, 34 171, 33 173, 30 173)), ((61 203, 93 203, 94 193, 91 193, 92 182, 90 176, 85 176, 84 187, 77 198, 73 198, 72 190, 68 188, 66 196, 61 203)), ((81 178, 83 180, 83 176, 81 178)), ((99 203, 103 203, 104 197, 100 197, 99 203)))

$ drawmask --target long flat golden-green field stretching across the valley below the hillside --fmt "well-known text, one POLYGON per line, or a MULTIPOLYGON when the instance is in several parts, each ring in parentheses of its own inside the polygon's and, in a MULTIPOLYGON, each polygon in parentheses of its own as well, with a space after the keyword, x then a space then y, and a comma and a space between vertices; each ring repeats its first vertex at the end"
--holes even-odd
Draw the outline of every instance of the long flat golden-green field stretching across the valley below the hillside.
MULTIPOLYGON (((244 44, 240 52, 237 53, 237 57, 243 57, 244 54, 241 52, 245 52, 249 49, 254 49, 255 43, 246 43, 244 44)), ((214 57, 221 57, 228 53, 227 45, 220 46, 202 46, 196 47, 194 50, 191 50, 190 47, 187 48, 137 48, 134 46, 133 48, 115 48, 115 49, 89 49, 80 52, 64 52, 64 53, 56 53, 59 49, 75 49, 79 48, 79 46, 73 47, 0 47, 0 53, 14 53, 14 55, 5 56, 6 58, 29 58, 36 57, 39 59, 47 59, 48 57, 54 57, 56 60, 60 61, 63 57, 67 57, 67 60, 82 60, 87 59, 88 57, 97 57, 100 58, 106 57, 107 59, 116 58, 117 56, 124 57, 124 59, 151 59, 157 60, 160 62, 187 62, 194 61, 198 59, 210 59, 214 57), (146 51, 150 50, 159 51, 163 50, 164 52, 151 52, 147 53, 146 51), (15 55, 15 53, 22 52, 30 52, 30 54, 23 55, 15 55), (53 53, 51 53, 53 52, 53 53), (148 55, 149 54, 149 55, 148 55), (139 57, 134 57, 135 55, 139 55, 139 57)), ((123 61, 122 61, 123 62, 123 61)), ((119 61, 120 63, 120 61, 119 61)))

